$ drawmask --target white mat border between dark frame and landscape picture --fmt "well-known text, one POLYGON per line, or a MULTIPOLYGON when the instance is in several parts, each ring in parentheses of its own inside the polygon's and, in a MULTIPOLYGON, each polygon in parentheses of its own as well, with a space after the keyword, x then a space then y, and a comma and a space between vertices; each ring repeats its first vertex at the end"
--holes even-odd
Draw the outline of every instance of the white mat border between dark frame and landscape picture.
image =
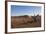
POLYGON ((44 30, 44 4, 37 3, 20 3, 20 2, 7 2, 7 31, 8 32, 23 32, 23 31, 39 31, 44 30), (22 5, 22 6, 41 6, 41 27, 35 28, 15 28, 11 29, 11 5, 22 5))

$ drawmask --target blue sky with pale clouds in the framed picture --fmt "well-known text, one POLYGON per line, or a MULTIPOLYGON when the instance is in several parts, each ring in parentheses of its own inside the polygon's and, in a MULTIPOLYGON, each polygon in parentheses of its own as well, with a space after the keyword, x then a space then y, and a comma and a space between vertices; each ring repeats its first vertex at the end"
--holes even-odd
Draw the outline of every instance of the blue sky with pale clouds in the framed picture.
POLYGON ((34 14, 40 14, 40 6, 20 6, 20 5, 11 5, 11 16, 21 16, 29 15, 33 16, 34 14))

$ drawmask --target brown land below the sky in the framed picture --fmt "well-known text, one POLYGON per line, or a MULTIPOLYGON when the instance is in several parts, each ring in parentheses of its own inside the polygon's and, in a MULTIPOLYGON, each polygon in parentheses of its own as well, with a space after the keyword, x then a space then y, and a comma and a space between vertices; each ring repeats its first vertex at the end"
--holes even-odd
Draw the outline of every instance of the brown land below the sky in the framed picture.
POLYGON ((41 27, 41 16, 11 16, 11 28, 41 27))

